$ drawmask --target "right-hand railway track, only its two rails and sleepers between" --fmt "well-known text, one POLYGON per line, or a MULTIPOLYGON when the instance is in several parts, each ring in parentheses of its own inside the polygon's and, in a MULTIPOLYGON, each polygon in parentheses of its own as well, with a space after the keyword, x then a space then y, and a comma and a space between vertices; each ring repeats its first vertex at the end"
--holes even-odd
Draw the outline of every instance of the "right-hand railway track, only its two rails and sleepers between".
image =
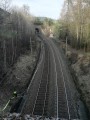
POLYGON ((57 53, 54 51, 54 48, 51 48, 51 49, 53 53, 53 59, 56 67, 56 76, 57 76, 56 77, 56 103, 57 103, 56 115, 57 115, 57 118, 66 118, 70 120, 70 112, 69 112, 67 92, 66 92, 63 72, 62 72, 62 69, 60 69, 59 66, 57 65, 57 61, 55 59, 56 58, 55 54, 57 53), (58 72, 57 72, 57 69, 58 69, 58 72))

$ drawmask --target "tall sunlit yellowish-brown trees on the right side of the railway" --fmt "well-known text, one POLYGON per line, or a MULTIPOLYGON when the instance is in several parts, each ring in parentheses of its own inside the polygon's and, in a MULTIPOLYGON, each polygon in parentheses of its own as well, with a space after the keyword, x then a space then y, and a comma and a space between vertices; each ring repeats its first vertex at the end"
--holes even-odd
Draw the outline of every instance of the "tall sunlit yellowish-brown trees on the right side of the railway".
POLYGON ((90 1, 89 0, 65 0, 61 18, 61 36, 77 49, 90 51, 90 1))

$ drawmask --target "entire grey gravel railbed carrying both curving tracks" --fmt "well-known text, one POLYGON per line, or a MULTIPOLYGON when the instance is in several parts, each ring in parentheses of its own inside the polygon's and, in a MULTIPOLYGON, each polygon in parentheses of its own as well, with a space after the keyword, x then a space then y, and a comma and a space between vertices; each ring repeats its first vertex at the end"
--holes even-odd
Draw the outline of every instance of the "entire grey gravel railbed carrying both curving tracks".
MULTIPOLYGON (((61 119, 77 119, 72 94, 71 79, 55 44, 42 40, 40 62, 27 89, 27 97, 21 107, 22 114, 52 116, 61 119)), ((73 88, 74 89, 74 88, 73 88)))

